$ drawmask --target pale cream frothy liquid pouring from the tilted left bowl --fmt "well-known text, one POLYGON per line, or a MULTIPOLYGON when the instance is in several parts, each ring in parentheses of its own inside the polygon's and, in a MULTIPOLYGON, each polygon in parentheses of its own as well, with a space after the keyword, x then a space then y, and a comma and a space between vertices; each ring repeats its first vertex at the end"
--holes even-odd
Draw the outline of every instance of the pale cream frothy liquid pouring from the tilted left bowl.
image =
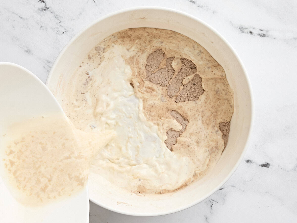
POLYGON ((112 137, 78 130, 63 114, 14 123, 1 136, 2 178, 25 205, 72 196, 86 186, 90 162, 112 137))

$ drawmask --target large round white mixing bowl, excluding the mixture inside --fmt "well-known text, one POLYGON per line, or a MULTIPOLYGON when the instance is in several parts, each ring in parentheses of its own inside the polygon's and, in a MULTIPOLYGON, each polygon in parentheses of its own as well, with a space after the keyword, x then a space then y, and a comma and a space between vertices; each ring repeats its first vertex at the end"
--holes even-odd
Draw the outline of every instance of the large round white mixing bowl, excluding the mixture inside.
POLYGON ((181 211, 203 201, 233 174, 244 156, 251 131, 252 90, 238 55, 224 37, 209 25, 177 10, 137 7, 113 12, 100 18, 69 41, 57 57, 46 81, 58 101, 61 101, 61 86, 69 84, 69 78, 91 48, 114 32, 136 27, 170 29, 192 38, 224 68, 234 91, 234 114, 228 145, 214 169, 202 180, 174 194, 139 196, 118 189, 104 180, 96 182, 90 175, 89 196, 92 202, 123 214, 155 216, 181 211))

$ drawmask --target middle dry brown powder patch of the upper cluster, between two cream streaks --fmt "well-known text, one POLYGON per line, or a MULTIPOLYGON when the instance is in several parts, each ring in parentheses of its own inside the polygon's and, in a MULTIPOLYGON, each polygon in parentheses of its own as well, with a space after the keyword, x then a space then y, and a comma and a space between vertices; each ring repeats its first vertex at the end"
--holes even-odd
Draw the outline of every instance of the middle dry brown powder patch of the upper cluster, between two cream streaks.
POLYGON ((196 65, 187 58, 181 58, 181 69, 178 71, 176 77, 168 85, 168 96, 174 97, 178 92, 179 88, 183 84, 184 78, 196 73, 196 65))

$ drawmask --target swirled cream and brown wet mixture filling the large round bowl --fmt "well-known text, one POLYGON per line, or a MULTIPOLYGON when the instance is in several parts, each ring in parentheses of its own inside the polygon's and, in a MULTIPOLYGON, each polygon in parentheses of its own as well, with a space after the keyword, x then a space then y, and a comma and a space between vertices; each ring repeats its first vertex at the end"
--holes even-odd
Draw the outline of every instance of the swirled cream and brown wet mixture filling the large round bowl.
POLYGON ((165 29, 108 36, 60 92, 76 128, 115 131, 91 172, 136 194, 202 178, 227 144, 234 111, 223 68, 194 40, 165 29))

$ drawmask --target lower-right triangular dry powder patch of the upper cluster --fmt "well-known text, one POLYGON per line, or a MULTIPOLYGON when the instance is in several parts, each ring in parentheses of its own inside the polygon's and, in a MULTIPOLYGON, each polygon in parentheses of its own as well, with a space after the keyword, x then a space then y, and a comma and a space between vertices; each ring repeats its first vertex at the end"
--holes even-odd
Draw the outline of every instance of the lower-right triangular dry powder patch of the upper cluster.
POLYGON ((205 92, 201 82, 202 78, 199 76, 199 74, 195 74, 193 79, 190 80, 189 83, 184 85, 184 88, 181 90, 181 92, 175 99, 175 102, 198 100, 199 96, 205 92))

